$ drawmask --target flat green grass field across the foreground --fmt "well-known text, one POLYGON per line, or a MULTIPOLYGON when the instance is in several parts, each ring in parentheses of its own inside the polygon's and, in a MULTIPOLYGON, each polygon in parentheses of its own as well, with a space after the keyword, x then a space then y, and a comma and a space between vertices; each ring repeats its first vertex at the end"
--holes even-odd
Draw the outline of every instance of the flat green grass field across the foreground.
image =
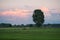
POLYGON ((0 28, 0 40, 60 40, 60 28, 0 28))

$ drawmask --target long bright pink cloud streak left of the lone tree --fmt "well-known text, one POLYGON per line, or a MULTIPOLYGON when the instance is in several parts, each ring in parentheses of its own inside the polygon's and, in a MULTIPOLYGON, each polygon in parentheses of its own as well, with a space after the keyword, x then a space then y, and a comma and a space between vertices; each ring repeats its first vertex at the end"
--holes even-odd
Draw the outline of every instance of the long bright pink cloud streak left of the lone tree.
POLYGON ((17 17, 21 17, 21 18, 27 18, 30 15, 29 12, 30 12, 30 10, 14 9, 14 11, 13 11, 12 9, 10 9, 8 11, 1 12, 0 15, 17 16, 17 17))

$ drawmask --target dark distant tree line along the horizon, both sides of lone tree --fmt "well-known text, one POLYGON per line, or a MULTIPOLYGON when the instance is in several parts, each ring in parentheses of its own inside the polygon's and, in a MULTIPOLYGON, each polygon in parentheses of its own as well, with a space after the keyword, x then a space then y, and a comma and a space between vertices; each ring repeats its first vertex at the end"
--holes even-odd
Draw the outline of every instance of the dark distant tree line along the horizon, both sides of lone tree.
MULTIPOLYGON (((60 27, 60 24, 44 24, 43 27, 60 27)), ((5 27, 37 27, 36 24, 21 24, 21 25, 12 25, 10 23, 0 23, 0 28, 5 27)))

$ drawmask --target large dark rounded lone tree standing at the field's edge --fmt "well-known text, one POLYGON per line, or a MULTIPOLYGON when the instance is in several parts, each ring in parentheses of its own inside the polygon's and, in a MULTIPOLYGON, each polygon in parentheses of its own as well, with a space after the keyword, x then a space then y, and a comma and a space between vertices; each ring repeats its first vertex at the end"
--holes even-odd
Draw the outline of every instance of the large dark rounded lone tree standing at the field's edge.
POLYGON ((40 27, 44 23, 44 14, 40 9, 34 10, 32 17, 33 21, 36 23, 38 27, 40 27))

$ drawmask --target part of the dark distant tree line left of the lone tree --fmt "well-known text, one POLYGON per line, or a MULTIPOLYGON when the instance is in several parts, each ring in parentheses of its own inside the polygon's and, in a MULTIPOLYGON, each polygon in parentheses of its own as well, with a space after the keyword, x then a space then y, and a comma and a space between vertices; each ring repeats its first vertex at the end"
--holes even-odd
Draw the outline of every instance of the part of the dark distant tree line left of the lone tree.
POLYGON ((24 25, 24 24, 21 24, 21 25, 12 25, 12 24, 10 24, 10 23, 0 23, 0 28, 1 27, 33 27, 35 24, 26 24, 26 25, 24 25))

